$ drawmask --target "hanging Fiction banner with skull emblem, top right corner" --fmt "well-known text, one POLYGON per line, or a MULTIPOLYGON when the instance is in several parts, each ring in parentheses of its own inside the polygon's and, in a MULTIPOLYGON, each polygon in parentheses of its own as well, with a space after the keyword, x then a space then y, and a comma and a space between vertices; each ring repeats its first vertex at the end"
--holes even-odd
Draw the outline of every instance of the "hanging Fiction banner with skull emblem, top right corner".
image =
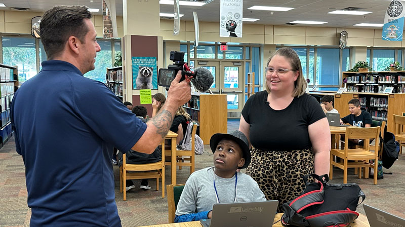
POLYGON ((400 1, 392 1, 384 18, 382 39, 386 41, 401 41, 403 32, 403 16, 405 10, 400 1))

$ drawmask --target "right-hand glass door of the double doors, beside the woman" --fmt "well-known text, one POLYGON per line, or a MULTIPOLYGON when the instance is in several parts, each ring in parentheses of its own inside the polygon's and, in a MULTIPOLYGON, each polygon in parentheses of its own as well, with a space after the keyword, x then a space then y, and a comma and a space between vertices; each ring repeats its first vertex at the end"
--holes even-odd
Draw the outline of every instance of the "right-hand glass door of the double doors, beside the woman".
POLYGON ((228 112, 240 112, 243 107, 244 79, 242 62, 221 62, 221 94, 227 95, 228 112))

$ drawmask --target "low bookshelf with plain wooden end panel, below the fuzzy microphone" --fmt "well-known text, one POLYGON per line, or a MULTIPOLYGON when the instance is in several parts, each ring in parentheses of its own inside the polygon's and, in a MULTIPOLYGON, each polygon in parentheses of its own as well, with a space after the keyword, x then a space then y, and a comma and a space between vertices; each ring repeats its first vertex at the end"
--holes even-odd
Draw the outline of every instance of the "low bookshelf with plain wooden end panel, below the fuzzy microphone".
POLYGON ((227 133, 227 100, 224 94, 192 93, 183 105, 193 121, 199 124, 199 137, 210 144, 215 133, 227 133))

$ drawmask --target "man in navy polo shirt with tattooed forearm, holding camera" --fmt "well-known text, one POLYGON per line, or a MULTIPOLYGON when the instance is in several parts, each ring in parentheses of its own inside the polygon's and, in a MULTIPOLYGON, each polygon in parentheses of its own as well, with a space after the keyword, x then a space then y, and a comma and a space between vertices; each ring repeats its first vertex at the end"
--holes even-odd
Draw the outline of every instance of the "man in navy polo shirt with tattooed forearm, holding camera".
POLYGON ((11 105, 31 226, 121 226, 113 147, 152 153, 177 108, 191 98, 189 83, 179 83, 178 74, 165 105, 144 124, 103 83, 85 78, 100 51, 91 18, 86 7, 54 7, 44 14, 40 35, 49 61, 11 105))

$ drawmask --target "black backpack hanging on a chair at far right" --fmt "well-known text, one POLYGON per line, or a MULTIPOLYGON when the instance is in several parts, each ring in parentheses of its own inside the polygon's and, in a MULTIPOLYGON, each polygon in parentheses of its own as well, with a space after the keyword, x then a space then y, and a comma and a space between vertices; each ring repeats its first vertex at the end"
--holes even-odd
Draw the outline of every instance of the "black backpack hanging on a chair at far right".
POLYGON ((395 141, 394 134, 390 132, 384 132, 383 143, 383 155, 381 160, 385 168, 390 168, 392 164, 398 159, 399 143, 395 141))

